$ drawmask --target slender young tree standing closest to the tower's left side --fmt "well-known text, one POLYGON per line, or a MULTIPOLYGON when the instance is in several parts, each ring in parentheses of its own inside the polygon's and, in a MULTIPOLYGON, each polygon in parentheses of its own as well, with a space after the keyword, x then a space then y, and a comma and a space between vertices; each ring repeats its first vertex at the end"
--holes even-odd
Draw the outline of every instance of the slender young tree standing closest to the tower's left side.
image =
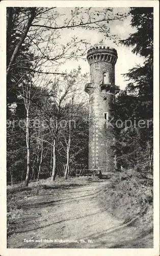
MULTIPOLYGON (((85 116, 88 114, 84 113, 87 102, 84 99, 78 101, 77 97, 79 97, 79 94, 81 94, 79 90, 72 94, 70 103, 66 106, 68 125, 64 128, 61 138, 64 154, 66 154, 65 179, 67 179, 70 173, 70 165, 73 166, 75 164, 75 157, 81 155, 82 159, 82 153, 85 150, 85 146, 88 148, 88 138, 85 142, 85 133, 82 131, 82 126, 85 127, 85 116)), ((85 128, 85 132, 88 135, 88 127, 85 128)), ((83 161, 81 166, 83 166, 85 162, 86 161, 83 161)))

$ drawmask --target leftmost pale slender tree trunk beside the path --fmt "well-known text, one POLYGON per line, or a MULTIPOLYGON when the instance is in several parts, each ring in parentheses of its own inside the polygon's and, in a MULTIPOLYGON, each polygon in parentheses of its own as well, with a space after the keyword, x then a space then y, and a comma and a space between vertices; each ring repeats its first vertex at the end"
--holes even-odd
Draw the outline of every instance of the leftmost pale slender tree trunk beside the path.
POLYGON ((26 109, 26 177, 25 186, 29 185, 30 178, 30 131, 29 131, 29 109, 26 109))

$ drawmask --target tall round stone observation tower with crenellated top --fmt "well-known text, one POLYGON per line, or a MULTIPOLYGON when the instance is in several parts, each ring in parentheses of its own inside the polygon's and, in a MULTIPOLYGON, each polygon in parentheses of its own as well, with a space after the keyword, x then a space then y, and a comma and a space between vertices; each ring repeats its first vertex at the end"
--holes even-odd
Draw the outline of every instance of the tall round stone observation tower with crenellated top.
POLYGON ((107 121, 114 117, 112 103, 119 87, 115 86, 115 49, 100 46, 87 52, 90 65, 90 83, 85 86, 89 94, 89 169, 99 168, 101 173, 114 172, 113 127, 107 121))

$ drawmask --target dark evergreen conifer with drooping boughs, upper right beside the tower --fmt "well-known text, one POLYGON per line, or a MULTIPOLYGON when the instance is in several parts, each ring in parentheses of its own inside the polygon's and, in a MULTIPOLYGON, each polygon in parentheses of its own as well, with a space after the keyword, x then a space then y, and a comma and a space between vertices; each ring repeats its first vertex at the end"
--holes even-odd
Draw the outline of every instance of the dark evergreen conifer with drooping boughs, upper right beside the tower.
POLYGON ((145 57, 144 65, 129 70, 125 76, 131 80, 127 91, 138 93, 142 105, 142 113, 147 106, 147 116, 152 116, 153 108, 153 8, 131 8, 131 26, 136 27, 137 32, 131 34, 127 39, 121 40, 125 46, 132 46, 133 53, 145 57), (148 105, 149 104, 149 105, 148 105))

